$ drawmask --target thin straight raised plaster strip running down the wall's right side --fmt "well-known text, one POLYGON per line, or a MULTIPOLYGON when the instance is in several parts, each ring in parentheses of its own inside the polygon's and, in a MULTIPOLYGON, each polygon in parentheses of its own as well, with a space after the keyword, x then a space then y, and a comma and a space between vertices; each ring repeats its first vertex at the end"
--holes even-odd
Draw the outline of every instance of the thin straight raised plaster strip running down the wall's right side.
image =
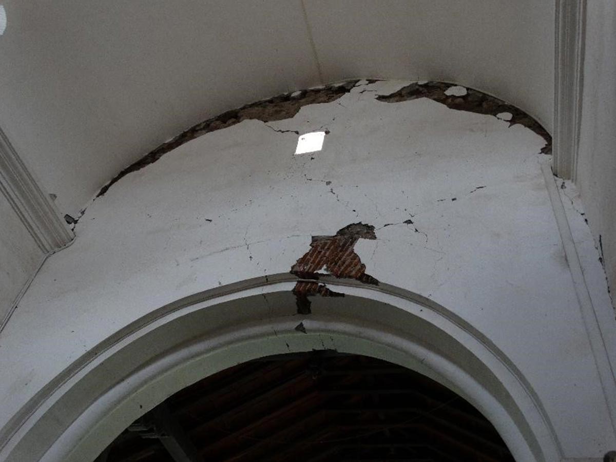
POLYGON ((558 231, 561 236, 562 247, 565 257, 567 258, 573 289, 578 299, 580 314, 582 315, 586 335, 588 336, 591 351, 593 352, 606 405, 609 409, 612 428, 616 431, 616 423, 614 421, 616 417, 616 381, 614 380, 616 378, 616 352, 612 351, 607 344, 609 339, 612 338, 613 333, 606 332, 606 335, 604 335, 602 323, 598 320, 598 310, 602 309, 602 306, 595 306, 593 304, 590 288, 586 282, 582 263, 578 255, 577 246, 575 245, 575 240, 573 240, 567 213, 562 204, 561 195, 558 191, 556 181, 554 180, 552 168, 548 162, 541 162, 541 172, 543 172, 549 200, 554 211, 554 218, 556 219, 558 231))

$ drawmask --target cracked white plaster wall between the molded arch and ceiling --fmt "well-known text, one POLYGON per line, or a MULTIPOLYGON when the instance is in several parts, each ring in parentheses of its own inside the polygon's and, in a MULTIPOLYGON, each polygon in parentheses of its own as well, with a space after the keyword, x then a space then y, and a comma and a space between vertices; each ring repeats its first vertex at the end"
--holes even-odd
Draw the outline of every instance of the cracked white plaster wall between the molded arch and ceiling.
POLYGON ((211 132, 94 201, 0 336, 0 428, 132 322, 191 294, 288 274, 313 235, 361 221, 376 227, 376 240, 355 246, 367 273, 432 299, 500 349, 563 458, 614 448, 616 322, 581 217, 573 239, 589 281, 573 283, 543 139, 432 100, 374 99, 401 85, 211 132), (323 150, 299 156, 297 136, 276 131, 315 129, 330 131, 323 150))

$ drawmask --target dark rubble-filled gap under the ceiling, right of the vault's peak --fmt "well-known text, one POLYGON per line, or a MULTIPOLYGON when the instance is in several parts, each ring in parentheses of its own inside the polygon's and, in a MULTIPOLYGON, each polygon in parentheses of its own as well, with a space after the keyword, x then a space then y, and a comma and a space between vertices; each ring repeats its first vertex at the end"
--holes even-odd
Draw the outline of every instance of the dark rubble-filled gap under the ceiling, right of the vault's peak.
POLYGON ((503 100, 468 87, 465 87, 466 94, 461 96, 445 94, 445 92, 452 86, 454 85, 444 82, 426 82, 421 84, 413 82, 410 85, 402 87, 391 95, 378 96, 376 99, 387 103, 397 103, 418 98, 429 98, 433 101, 444 104, 450 109, 455 109, 458 111, 469 111, 477 114, 493 116, 508 112, 511 114, 511 119, 508 120, 509 126, 521 124, 526 128, 529 128, 545 140, 545 146, 541 148, 541 153, 551 154, 552 137, 540 123, 538 123, 527 113, 509 103, 506 103, 503 100))

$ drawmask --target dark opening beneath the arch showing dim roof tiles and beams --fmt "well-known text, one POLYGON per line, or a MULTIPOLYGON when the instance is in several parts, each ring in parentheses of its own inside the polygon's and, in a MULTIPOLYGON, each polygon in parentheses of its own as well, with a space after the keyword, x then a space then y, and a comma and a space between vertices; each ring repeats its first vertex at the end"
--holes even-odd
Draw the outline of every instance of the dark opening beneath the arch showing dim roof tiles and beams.
POLYGON ((131 424, 97 462, 513 461, 492 424, 419 373, 314 351, 202 379, 131 424))

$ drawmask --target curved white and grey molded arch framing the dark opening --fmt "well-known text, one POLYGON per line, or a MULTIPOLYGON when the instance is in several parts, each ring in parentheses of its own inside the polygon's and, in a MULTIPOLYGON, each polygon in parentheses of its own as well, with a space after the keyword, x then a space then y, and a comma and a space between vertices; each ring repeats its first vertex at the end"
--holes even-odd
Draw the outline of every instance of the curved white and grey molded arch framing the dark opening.
POLYGON ((205 376, 312 349, 368 355, 423 373, 482 412, 517 461, 561 458, 524 376, 472 326, 394 286, 323 279, 345 297, 315 297, 310 315, 296 314, 290 274, 222 286, 153 311, 36 395, 15 416, 0 460, 92 461, 132 421, 205 376), (296 330, 299 323, 306 333, 296 330))

